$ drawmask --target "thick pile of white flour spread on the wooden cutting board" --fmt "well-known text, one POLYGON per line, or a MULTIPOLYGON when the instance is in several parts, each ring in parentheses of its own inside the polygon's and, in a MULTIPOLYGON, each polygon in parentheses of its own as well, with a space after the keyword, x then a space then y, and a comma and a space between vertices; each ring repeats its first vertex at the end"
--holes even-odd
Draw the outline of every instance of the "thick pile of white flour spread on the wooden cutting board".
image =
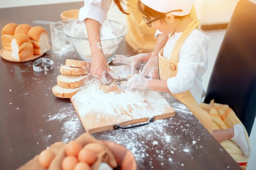
POLYGON ((100 82, 94 78, 88 85, 72 97, 74 101, 81 103, 77 108, 80 113, 104 111, 108 114, 115 115, 115 109, 117 109, 117 107, 123 107, 128 111, 128 104, 136 103, 142 107, 147 106, 147 104, 143 102, 145 97, 144 93, 131 91, 122 94, 116 94, 114 92, 105 93, 99 90, 99 84, 100 82))

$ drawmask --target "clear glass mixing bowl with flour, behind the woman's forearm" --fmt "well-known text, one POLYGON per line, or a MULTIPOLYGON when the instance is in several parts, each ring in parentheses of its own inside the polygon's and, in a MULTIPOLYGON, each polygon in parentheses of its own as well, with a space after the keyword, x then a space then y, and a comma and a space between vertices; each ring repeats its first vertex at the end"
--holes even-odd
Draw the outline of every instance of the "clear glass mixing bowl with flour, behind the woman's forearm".
MULTIPOLYGON (((98 45, 98 47, 102 48, 108 63, 115 56, 117 48, 124 39, 127 31, 128 29, 124 24, 115 21, 106 20, 101 25, 101 46, 98 45)), ((66 24, 63 32, 67 35, 70 44, 72 44, 80 58, 84 61, 92 62, 85 24, 79 20, 75 20, 66 24)))

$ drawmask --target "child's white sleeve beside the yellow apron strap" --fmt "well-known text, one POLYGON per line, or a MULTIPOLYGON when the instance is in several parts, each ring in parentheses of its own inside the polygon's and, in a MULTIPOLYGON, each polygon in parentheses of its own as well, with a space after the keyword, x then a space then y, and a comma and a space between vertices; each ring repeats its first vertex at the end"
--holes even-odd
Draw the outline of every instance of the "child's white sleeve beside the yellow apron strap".
POLYGON ((199 68, 207 68, 207 50, 200 41, 187 42, 182 46, 179 60, 176 76, 167 79, 168 89, 173 94, 191 89, 196 75, 201 74, 199 68))

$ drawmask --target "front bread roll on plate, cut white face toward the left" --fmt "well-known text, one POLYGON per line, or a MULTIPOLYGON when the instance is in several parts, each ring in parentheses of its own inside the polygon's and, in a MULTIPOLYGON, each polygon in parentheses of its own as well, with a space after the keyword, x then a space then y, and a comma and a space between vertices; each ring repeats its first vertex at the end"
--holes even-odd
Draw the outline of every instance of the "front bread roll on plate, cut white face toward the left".
POLYGON ((11 57, 17 61, 34 57, 33 45, 26 34, 13 35, 11 39, 11 57))

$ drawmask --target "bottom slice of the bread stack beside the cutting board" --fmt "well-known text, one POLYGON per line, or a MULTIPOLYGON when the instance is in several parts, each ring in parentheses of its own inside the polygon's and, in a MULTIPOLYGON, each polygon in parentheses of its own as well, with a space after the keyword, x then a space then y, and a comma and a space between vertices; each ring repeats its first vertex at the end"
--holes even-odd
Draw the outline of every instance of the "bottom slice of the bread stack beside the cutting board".
POLYGON ((59 98, 72 98, 72 96, 74 96, 81 87, 66 89, 59 85, 56 85, 52 87, 52 92, 56 97, 59 97, 59 98))

